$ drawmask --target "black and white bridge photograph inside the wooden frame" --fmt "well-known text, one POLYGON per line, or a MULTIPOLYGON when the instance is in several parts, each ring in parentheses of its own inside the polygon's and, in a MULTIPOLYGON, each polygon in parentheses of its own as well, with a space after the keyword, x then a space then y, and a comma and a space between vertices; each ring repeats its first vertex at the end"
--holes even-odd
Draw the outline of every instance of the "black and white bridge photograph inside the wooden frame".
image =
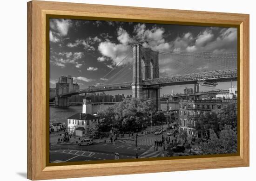
POLYGON ((237 28, 50 18, 48 33, 50 163, 237 153, 237 28))

